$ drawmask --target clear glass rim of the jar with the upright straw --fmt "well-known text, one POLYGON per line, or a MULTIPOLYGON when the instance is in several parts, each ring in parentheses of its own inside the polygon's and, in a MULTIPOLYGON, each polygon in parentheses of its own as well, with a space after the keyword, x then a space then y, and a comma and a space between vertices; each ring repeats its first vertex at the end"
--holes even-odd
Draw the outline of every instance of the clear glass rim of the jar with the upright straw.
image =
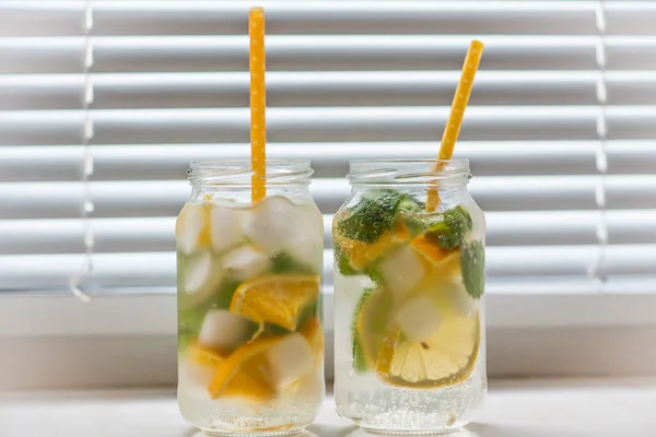
MULTIPOLYGON (((267 160, 261 177, 267 185, 309 184, 314 170, 309 160, 267 160)), ((191 185, 250 185, 255 172, 250 160, 192 161, 187 172, 191 185)))

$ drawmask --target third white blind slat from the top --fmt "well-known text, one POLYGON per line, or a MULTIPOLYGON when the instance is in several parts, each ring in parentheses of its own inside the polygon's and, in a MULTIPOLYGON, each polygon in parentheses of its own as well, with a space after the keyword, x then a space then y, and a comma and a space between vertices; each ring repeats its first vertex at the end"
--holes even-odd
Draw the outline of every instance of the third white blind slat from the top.
MULTIPOLYGON (((596 104, 594 72, 481 72, 470 105, 596 104)), ((246 107, 248 73, 101 73, 93 75, 94 109, 246 107)), ((425 72, 272 72, 267 98, 273 107, 434 106, 453 97, 456 71, 425 72)), ((618 98, 648 83, 651 76, 611 81, 618 98)), ((82 74, 7 74, 0 109, 77 109, 82 74)), ((656 103, 641 95, 642 103, 656 103)), ((623 102, 633 102, 623 98, 623 102)))

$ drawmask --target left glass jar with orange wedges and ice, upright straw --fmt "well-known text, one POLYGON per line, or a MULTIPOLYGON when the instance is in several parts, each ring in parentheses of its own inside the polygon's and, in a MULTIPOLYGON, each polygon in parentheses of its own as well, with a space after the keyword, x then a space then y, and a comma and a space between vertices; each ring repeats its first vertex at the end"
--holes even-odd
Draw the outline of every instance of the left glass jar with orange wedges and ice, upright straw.
POLYGON ((191 163, 176 223, 178 405, 206 434, 289 434, 325 395, 324 223, 309 161, 191 163))

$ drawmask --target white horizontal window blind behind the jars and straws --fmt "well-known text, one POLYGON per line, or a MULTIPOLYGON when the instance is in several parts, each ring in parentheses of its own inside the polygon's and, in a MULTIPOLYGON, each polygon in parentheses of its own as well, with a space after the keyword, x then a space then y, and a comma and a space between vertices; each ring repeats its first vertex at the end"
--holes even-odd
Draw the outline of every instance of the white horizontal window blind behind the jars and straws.
MULTIPOLYGON (((457 157, 491 293, 656 292, 656 5, 265 1, 268 153, 330 220, 351 158, 457 157)), ((188 162, 248 156, 246 1, 0 1, 0 290, 175 290, 188 162)))

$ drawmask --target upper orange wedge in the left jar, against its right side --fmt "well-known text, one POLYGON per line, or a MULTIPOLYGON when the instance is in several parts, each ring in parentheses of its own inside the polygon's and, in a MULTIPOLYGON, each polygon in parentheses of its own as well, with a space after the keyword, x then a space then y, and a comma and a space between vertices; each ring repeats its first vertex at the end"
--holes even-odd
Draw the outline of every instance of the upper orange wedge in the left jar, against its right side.
POLYGON ((242 283, 230 304, 232 312, 260 323, 295 331, 300 315, 319 297, 319 275, 266 275, 242 283))

